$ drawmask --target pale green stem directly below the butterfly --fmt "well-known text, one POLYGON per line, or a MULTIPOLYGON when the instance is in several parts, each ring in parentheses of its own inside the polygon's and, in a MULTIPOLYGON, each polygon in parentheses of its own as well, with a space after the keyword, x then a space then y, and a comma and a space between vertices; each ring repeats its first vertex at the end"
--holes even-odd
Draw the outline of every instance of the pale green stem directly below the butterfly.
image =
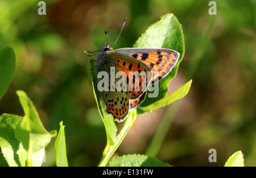
POLYGON ((126 118, 125 122, 123 122, 123 126, 117 135, 117 137, 114 139, 114 143, 110 144, 109 138, 107 141, 107 145, 105 147, 105 150, 103 151, 102 158, 100 163, 98 164, 99 167, 106 166, 106 164, 109 162, 110 158, 114 154, 115 150, 119 147, 119 145, 122 143, 123 138, 125 138, 125 135, 133 126, 134 121, 136 120, 136 110, 132 111, 131 115, 126 118))

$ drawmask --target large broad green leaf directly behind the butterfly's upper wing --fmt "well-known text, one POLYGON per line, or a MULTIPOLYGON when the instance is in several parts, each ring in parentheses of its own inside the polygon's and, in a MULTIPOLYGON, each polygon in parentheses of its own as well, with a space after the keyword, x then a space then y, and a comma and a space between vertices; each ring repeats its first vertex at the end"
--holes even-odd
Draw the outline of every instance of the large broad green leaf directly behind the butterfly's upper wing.
POLYGON ((158 90, 159 95, 156 98, 148 98, 150 92, 147 93, 146 99, 141 104, 141 107, 146 107, 167 95, 169 83, 177 74, 179 63, 184 56, 185 44, 179 20, 177 20, 174 14, 163 15, 161 20, 148 27, 147 31, 139 37, 134 44, 134 48, 167 48, 176 50, 180 53, 179 60, 174 68, 172 68, 172 71, 160 80, 158 90))

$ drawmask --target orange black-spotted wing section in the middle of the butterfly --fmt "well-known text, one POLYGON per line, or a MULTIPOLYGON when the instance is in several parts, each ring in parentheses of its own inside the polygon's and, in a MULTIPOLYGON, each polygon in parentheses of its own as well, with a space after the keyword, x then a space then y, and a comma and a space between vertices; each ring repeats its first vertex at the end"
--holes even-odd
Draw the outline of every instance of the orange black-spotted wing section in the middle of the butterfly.
POLYGON ((125 54, 112 52, 107 57, 120 71, 122 78, 127 82, 130 99, 138 99, 151 82, 151 71, 147 65, 125 54))

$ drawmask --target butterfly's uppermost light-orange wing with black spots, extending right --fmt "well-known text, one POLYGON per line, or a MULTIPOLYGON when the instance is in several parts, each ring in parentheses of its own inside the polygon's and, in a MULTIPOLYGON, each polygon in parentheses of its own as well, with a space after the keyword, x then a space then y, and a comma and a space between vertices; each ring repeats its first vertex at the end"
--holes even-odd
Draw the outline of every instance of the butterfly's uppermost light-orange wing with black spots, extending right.
POLYGON ((152 71, 158 71, 159 75, 152 76, 152 82, 159 77, 159 80, 166 77, 176 65, 180 54, 172 49, 154 49, 154 48, 121 48, 114 50, 125 54, 135 60, 141 61, 152 71))

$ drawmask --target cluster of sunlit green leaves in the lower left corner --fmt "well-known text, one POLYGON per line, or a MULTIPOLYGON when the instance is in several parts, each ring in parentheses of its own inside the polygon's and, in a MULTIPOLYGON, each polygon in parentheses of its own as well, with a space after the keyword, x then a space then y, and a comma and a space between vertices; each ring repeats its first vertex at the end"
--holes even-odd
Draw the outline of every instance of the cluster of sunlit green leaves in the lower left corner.
MULTIPOLYGON (((18 91, 25 116, 3 114, 0 117, 0 147, 9 166, 40 166, 44 149, 56 132, 48 133, 38 113, 23 91, 18 91)), ((5 164, 2 160, 1 164, 5 164)))

